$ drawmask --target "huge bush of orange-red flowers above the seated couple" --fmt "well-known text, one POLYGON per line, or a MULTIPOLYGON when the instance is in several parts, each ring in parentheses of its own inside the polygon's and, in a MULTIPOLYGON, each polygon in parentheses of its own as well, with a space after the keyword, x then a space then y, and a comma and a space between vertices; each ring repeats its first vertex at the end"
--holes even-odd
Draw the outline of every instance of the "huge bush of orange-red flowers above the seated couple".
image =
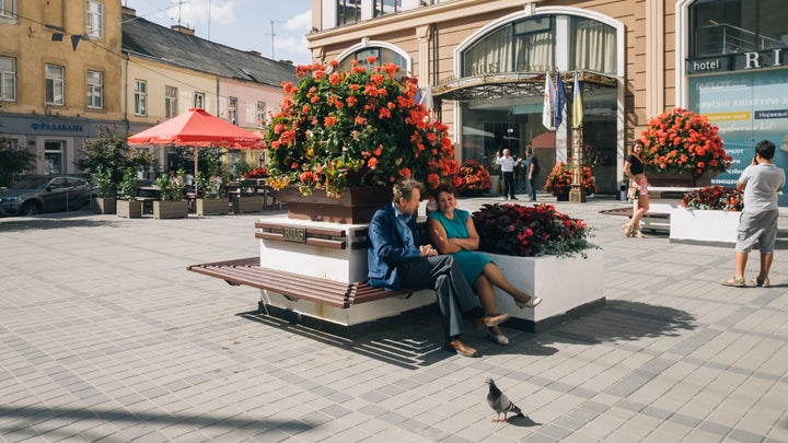
MULTIPOLYGON (((264 140, 270 159, 266 184, 275 190, 298 188, 277 195, 288 202, 291 217, 305 210, 300 205, 308 201, 299 194, 322 195, 348 207, 354 202, 347 200, 360 196, 376 209, 390 197, 386 190, 349 190, 389 187, 402 177, 434 188, 441 177, 456 172, 448 127, 431 120, 416 102, 416 79, 402 75, 396 65, 374 66, 376 61, 356 60, 349 72, 329 71, 339 68, 337 61, 300 66, 298 84, 285 83, 281 112, 271 118, 264 140), (369 201, 373 196, 378 199, 369 201)), ((315 198, 311 202, 331 205, 315 198)))

